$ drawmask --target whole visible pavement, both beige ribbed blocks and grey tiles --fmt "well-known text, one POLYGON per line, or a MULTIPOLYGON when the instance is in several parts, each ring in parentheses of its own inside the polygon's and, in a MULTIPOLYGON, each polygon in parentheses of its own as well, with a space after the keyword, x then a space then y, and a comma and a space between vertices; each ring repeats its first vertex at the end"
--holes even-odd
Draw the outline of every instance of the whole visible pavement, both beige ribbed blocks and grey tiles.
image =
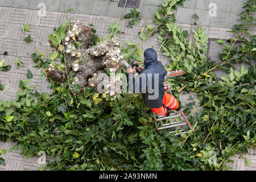
MULTIPOLYGON (((38 92, 51 92, 51 89, 48 88, 46 78, 42 80, 39 79, 41 69, 32 67, 34 63, 31 61, 31 54, 35 52, 34 47, 36 47, 38 51, 43 52, 46 58, 49 57, 49 53, 51 53, 51 51, 47 46, 48 35, 52 34, 53 28, 59 26, 60 18, 61 22, 64 22, 66 17, 63 14, 61 16, 61 13, 58 12, 62 10, 62 1, 60 0, 42 1, 47 5, 47 11, 46 16, 40 17, 38 14, 38 7, 36 7, 40 2, 41 1, 37 0, 2 0, 0 2, 0 53, 5 51, 9 53, 8 56, 2 57, 2 59, 5 60, 5 65, 10 64, 12 67, 8 72, 1 72, 0 81, 5 85, 5 89, 0 91, 0 100, 10 101, 17 97, 16 92, 19 90, 19 80, 26 79, 28 69, 30 69, 34 75, 34 77, 31 79, 30 85, 35 85, 38 92), (23 24, 27 23, 31 24, 31 31, 23 34, 21 28, 23 24), (31 35, 31 39, 33 39, 33 41, 30 43, 23 41, 23 39, 28 35, 31 35), (23 66, 19 69, 16 69, 16 65, 14 64, 14 60, 17 57, 21 57, 23 62, 23 66)), ((122 7, 117 7, 117 1, 76 0, 70 1, 69 3, 67 3, 68 1, 64 2, 66 9, 74 9, 74 12, 68 13, 69 18, 73 18, 74 21, 80 20, 81 22, 92 23, 94 28, 97 30, 97 35, 101 36, 102 38, 108 34, 110 20, 118 19, 118 16, 122 11, 122 7), (84 9, 84 7, 87 9, 84 9)), ((121 42, 126 40, 135 40, 137 43, 141 42, 138 32, 141 31, 143 23, 152 23, 152 14, 157 9, 156 5, 158 5, 159 2, 160 1, 141 0, 138 11, 142 10, 142 15, 146 18, 146 20, 142 20, 139 26, 127 28, 126 24, 128 21, 119 20, 121 31, 124 32, 124 34, 121 34, 120 36, 121 42)), ((176 22, 182 26, 184 30, 191 32, 191 29, 194 28, 191 15, 197 13, 197 15, 200 17, 199 24, 203 26, 209 38, 228 39, 231 35, 226 31, 229 30, 234 23, 236 23, 235 18, 237 18, 237 16, 234 17, 234 15, 240 13, 242 7, 240 5, 242 4, 243 0, 236 0, 236 3, 235 1, 230 0, 227 1, 225 6, 221 5, 222 1, 213 1, 216 2, 217 5, 220 5, 221 9, 221 14, 213 18, 209 18, 208 16, 208 5, 209 2, 212 1, 204 1, 207 3, 199 2, 203 1, 187 1, 185 3, 185 7, 180 7, 176 11, 176 22), (195 7, 197 7, 197 9, 195 9, 195 7), (236 7, 240 7, 240 9, 236 7), (227 16, 224 16, 225 13, 227 13, 227 16), (228 17, 227 20, 225 19, 226 17, 228 17)), ((123 12, 123 15, 129 12, 130 9, 127 8, 123 12)), ((251 29, 251 34, 256 35, 256 30, 251 29)), ((152 36, 146 42, 144 42, 142 44, 142 49, 144 51, 146 48, 152 46, 156 50, 160 48, 156 36, 152 36)), ((210 57, 212 60, 218 60, 218 53, 221 50, 222 46, 217 44, 215 39, 209 39, 208 57, 210 57)), ((163 64, 168 64, 170 61, 168 57, 162 54, 162 52, 159 52, 158 59, 161 60, 163 64)), ((241 65, 237 66, 241 68, 241 65)), ((218 77, 225 75, 225 73, 221 71, 218 71, 216 74, 218 77)), ((187 98, 190 95, 191 94, 180 96, 181 100, 184 101, 181 103, 182 105, 186 104, 187 98)), ((195 98, 196 96, 193 95, 193 97, 195 98)), ((7 151, 5 155, 1 155, 2 158, 6 159, 6 167, 0 166, 0 170, 36 170, 36 167, 40 166, 38 164, 38 158, 26 160, 24 156, 20 155, 19 151, 9 152, 13 145, 13 142, 0 142, 0 150, 1 148, 5 148, 7 151)), ((243 154, 242 159, 239 159, 242 154, 232 157, 231 159, 234 160, 234 164, 229 163, 229 166, 233 168, 232 170, 255 170, 256 156, 252 154, 256 154, 255 148, 253 151, 250 151, 250 154, 243 154), (246 159, 251 160, 252 164, 250 166, 245 166, 245 157, 246 159)))

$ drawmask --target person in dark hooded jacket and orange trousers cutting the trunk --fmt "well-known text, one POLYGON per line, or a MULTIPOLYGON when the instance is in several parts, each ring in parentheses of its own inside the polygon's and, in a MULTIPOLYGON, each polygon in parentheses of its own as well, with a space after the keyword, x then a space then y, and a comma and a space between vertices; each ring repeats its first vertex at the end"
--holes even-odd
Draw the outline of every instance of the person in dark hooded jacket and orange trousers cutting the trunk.
POLYGON ((144 68, 141 66, 134 68, 129 67, 126 70, 129 74, 129 90, 132 93, 141 92, 144 104, 160 116, 170 115, 170 110, 180 110, 176 98, 164 90, 163 81, 167 71, 163 67, 163 64, 157 60, 156 51, 152 48, 146 49, 146 51, 144 51, 143 60, 144 68), (139 76, 136 79, 133 75, 135 69, 139 72, 139 76), (142 75, 146 80, 142 79, 142 75), (151 89, 153 92, 150 92, 151 89), (152 99, 154 95, 158 97, 152 99))

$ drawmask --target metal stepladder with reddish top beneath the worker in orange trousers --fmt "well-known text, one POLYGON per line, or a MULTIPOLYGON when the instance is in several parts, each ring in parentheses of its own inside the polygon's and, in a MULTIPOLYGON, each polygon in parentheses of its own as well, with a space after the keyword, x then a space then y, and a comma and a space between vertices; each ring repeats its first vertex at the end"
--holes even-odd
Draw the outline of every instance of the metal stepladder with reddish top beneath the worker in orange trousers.
MULTIPOLYGON (((167 81, 168 78, 180 76, 183 74, 184 74, 183 70, 167 72, 167 75, 164 77, 164 79, 166 81, 166 85, 164 85, 164 89, 167 90, 167 93, 172 94, 171 88, 167 81)), ((191 123, 189 123, 188 118, 183 113, 182 109, 180 109, 179 111, 173 110, 173 113, 171 113, 168 117, 160 116, 158 114, 155 114, 154 112, 153 112, 153 114, 154 114, 154 122, 155 122, 156 131, 159 131, 159 130, 166 131, 166 129, 172 129, 172 128, 175 129, 176 128, 176 129, 180 130, 182 133, 187 133, 186 126, 188 126, 189 129, 192 129, 191 123), (164 122, 164 121, 166 121, 166 122, 164 122)), ((175 134, 175 131, 170 131, 169 133, 175 134)), ((175 135, 180 135, 180 133, 177 133, 175 135)))

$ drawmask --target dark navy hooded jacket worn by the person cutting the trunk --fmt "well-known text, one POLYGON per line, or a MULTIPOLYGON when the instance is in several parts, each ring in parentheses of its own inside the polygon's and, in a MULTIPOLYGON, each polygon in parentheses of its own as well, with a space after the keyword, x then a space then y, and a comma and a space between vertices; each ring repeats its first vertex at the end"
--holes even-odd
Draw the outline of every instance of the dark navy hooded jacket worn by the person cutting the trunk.
POLYGON ((134 79, 129 73, 129 90, 133 93, 142 93, 143 102, 150 108, 159 108, 163 105, 164 77, 167 74, 163 64, 157 60, 156 51, 152 48, 144 51, 144 70, 134 79))

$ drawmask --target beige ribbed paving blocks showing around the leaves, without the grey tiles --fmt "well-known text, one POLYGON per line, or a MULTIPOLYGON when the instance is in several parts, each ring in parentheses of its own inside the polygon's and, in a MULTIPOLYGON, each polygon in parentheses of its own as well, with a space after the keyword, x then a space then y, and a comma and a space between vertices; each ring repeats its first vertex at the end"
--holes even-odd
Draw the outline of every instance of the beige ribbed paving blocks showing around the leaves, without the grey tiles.
MULTIPOLYGON (((191 1, 192 4, 185 4, 189 8, 193 8, 194 5, 196 6, 196 1, 191 1), (195 2, 195 4, 193 3, 195 2)), ((152 3, 150 5, 154 5, 154 1, 148 1, 148 3, 152 3)), ((93 6, 97 5, 94 3, 93 6)), ((207 4, 202 4, 201 10, 206 9, 207 4)), ((10 5, 11 6, 11 5, 10 5)), ((109 6, 113 6, 112 3, 110 3, 109 6)), ((142 5, 145 6, 145 5, 142 5)), ((155 5, 154 5, 155 6, 155 5)), ((16 6, 18 7, 18 6, 16 6)), ((5 89, 3 91, 0 91, 0 100, 10 101, 14 100, 17 95, 16 92, 19 89, 19 80, 26 79, 26 73, 27 70, 30 69, 34 77, 31 79, 30 85, 35 85, 36 90, 38 92, 51 92, 51 89, 48 88, 48 82, 46 81, 46 78, 40 79, 40 71, 41 69, 34 68, 31 61, 31 54, 35 52, 35 47, 38 49, 38 51, 43 52, 46 59, 49 57, 49 53, 51 53, 50 48, 47 45, 48 35, 52 34, 53 28, 58 27, 60 23, 64 22, 64 20, 67 19, 67 17, 64 14, 61 14, 60 12, 56 12, 54 7, 53 11, 46 11, 46 16, 40 17, 38 14, 38 10, 34 9, 27 9, 29 7, 24 7, 23 9, 19 9, 16 7, 1 7, 0 6, 0 53, 3 53, 7 51, 9 53, 6 57, 1 57, 1 59, 5 60, 5 65, 10 64, 11 69, 9 72, 1 72, 0 75, 0 81, 2 84, 5 85, 5 89), (30 23, 30 32, 24 32, 24 34, 21 31, 21 28, 23 24, 30 23), (26 43, 24 42, 24 38, 26 38, 28 35, 31 35, 31 39, 33 39, 32 42, 26 43), (19 69, 16 69, 16 65, 14 64, 14 60, 17 57, 21 57, 21 61, 23 62, 23 66, 19 67, 19 69)), ((151 6, 148 6, 147 8, 150 9, 151 6)), ((187 7, 187 8, 188 8, 187 7)), ((224 7, 223 7, 224 8, 224 7)), ((233 6, 230 7, 231 9, 234 8, 233 6)), ((97 35, 101 36, 102 38, 105 37, 106 34, 108 34, 108 27, 110 24, 110 21, 112 19, 118 19, 117 18, 117 12, 119 12, 120 8, 116 12, 112 13, 105 13, 102 11, 101 13, 105 16, 101 15, 90 15, 90 14, 78 14, 78 13, 68 13, 68 18, 73 18, 74 21, 80 20, 81 22, 88 22, 93 23, 94 28, 97 30, 97 35)), ((125 10, 125 13, 128 9, 125 10)), ((95 7, 92 11, 95 11, 95 7)), ((222 10, 225 11, 225 10, 222 10)), ((77 11, 79 12, 79 11, 77 11)), ((129 12, 129 11, 128 11, 129 12)), ((181 13, 183 10, 181 10, 181 13)), ((208 17, 206 12, 200 11, 205 13, 205 17, 208 17)), ((179 10, 176 13, 177 16, 179 16, 179 10)), ((179 17, 178 17, 179 19, 179 17)), ((182 18, 180 18, 182 19, 182 18)), ((210 19, 211 21, 212 19, 210 19)), ((216 20, 217 21, 217 20, 216 20)), ((182 21, 181 21, 182 22, 182 21)), ((183 22, 181 23, 178 21, 178 25, 183 27, 183 30, 187 30, 188 32, 191 32, 192 28, 195 28, 195 26, 191 22, 183 22), (189 24, 190 23, 190 24, 189 24)), ((205 22, 205 21, 204 21, 205 22)), ((121 26, 121 31, 123 34, 120 35, 120 41, 124 42, 126 40, 134 40, 137 43, 141 43, 141 39, 139 39, 138 32, 141 31, 143 27, 143 23, 152 23, 152 20, 142 20, 139 26, 135 26, 133 28, 127 28, 127 20, 119 20, 119 25, 121 26)), ((199 23, 200 24, 200 23, 199 23)), ((205 29, 206 34, 209 36, 209 38, 215 38, 215 39, 228 39, 232 34, 229 32, 226 32, 227 30, 230 30, 229 28, 220 27, 217 24, 216 27, 212 26, 210 23, 203 23, 203 28, 205 29)), ((226 26, 226 23, 225 23, 226 26)), ((227 26, 228 27, 228 26, 227 26)), ((256 35, 255 30, 251 30, 252 35, 256 35)), ((222 51, 222 46, 218 45, 216 43, 210 42, 210 50, 209 50, 209 57, 212 57, 212 59, 218 59, 218 52, 222 51)), ((156 51, 160 48, 160 45, 158 43, 158 39, 156 36, 152 36, 149 38, 146 42, 142 44, 143 51, 148 47, 154 47, 156 51)), ((159 52, 158 59, 162 61, 163 64, 168 64, 170 59, 168 57, 164 56, 162 52, 159 52)), ((225 73, 218 72, 218 76, 223 76, 225 73)), ((191 94, 181 95, 180 100, 181 104, 185 105, 187 104, 188 97, 191 96, 191 94)), ((196 95, 193 94, 193 97, 196 98, 196 95)), ((40 164, 38 163, 38 158, 34 157, 31 159, 26 160, 24 156, 20 155, 20 151, 9 151, 11 147, 13 147, 15 143, 13 142, 0 142, 0 150, 1 148, 6 149, 6 154, 1 155, 4 159, 6 159, 6 167, 0 166, 0 170, 36 170, 36 167, 40 167, 40 164)), ((233 156, 232 159, 234 163, 228 163, 229 167, 232 167, 232 170, 255 170, 256 169, 256 150, 249 151, 249 154, 237 154, 236 156, 233 156), (254 154, 254 155, 253 155, 254 154), (243 158, 240 159, 241 155, 243 155, 243 158), (250 166, 245 166, 244 160, 245 157, 247 159, 250 159, 252 164, 250 166)), ((228 168, 227 168, 228 169, 228 168)))

